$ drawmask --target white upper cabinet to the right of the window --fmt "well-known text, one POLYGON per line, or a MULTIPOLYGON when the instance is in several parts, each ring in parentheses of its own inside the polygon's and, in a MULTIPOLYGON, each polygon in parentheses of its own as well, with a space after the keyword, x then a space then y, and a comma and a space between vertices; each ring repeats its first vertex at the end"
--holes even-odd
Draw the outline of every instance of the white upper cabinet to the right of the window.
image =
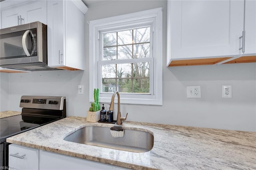
POLYGON ((256 53, 255 2, 246 0, 243 53, 239 37, 244 29, 244 0, 168 0, 167 65, 192 59, 204 59, 192 65, 216 64, 256 53))

